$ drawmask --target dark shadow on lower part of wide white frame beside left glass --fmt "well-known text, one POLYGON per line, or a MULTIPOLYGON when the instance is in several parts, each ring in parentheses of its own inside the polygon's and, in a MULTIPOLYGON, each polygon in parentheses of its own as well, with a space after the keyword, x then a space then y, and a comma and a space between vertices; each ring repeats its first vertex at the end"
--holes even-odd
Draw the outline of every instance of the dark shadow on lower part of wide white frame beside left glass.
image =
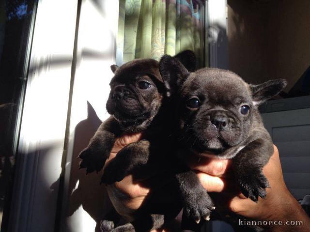
MULTIPOLYGON (((57 143, 59 141, 55 141, 56 145, 57 143)), ((16 170, 20 174, 14 179, 16 183, 12 192, 14 200, 11 203, 10 216, 7 214, 10 217, 7 231, 20 231, 26 227, 33 232, 53 231, 53 228, 47 225, 53 225, 55 222, 59 181, 52 185, 54 188, 50 188, 47 181, 50 179, 48 175, 54 171, 49 164, 53 161, 55 144, 42 145, 39 149, 17 154, 16 170), (23 196, 18 197, 21 191, 23 196), (27 202, 23 201, 25 199, 27 202), (29 213, 20 214, 25 209, 30 210, 29 213), (42 214, 44 217, 41 217, 42 214)))

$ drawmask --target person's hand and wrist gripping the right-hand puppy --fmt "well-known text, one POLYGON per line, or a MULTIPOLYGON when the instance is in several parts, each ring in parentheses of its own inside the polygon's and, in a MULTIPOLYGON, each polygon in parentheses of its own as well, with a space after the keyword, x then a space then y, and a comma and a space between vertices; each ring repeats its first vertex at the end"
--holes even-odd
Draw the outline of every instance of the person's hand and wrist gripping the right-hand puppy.
MULTIPOLYGON (((246 198, 238 189, 233 177, 232 160, 217 160, 209 158, 190 157, 189 166, 197 171, 204 188, 213 194, 217 210, 223 214, 270 221, 297 221, 303 220, 304 226, 287 226, 286 231, 309 231, 310 220, 299 203, 294 199, 286 188, 280 160, 279 152, 275 146, 275 151, 268 163, 263 168, 263 173, 267 177, 271 188, 267 188, 266 199, 259 198, 258 203, 246 198)), ((271 231, 285 231, 283 227, 271 227, 271 231)))

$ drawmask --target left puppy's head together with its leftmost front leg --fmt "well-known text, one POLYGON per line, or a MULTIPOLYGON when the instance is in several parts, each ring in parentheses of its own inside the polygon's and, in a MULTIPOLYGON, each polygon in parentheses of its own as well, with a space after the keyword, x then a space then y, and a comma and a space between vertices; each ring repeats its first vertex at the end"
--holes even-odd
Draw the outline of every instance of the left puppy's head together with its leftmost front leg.
POLYGON ((116 137, 145 131, 161 107, 164 88, 154 59, 136 59, 121 67, 111 66, 114 77, 106 104, 111 115, 89 145, 80 153, 80 168, 86 173, 100 171, 109 158, 116 137))

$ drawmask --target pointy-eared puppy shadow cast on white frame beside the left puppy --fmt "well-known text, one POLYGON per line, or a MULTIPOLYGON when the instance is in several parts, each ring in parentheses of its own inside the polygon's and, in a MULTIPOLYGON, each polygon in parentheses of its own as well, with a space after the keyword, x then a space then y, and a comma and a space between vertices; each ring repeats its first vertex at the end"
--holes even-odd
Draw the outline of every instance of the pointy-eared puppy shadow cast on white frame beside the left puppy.
MULTIPOLYGON (((79 169, 80 160, 78 154, 88 144, 95 131, 101 124, 101 120, 96 115, 93 106, 87 102, 87 119, 78 123, 75 129, 73 154, 71 160, 71 173, 69 181, 69 203, 67 207, 67 217, 71 217, 80 206, 93 218, 97 226, 95 231, 99 231, 99 222, 113 206, 110 203, 105 185, 100 185, 101 172, 87 174, 85 169, 79 169)), ((51 187, 52 188, 52 187, 51 187)), ((73 219, 75 220, 75 219, 73 219)), ((72 226, 74 222, 65 220, 66 232, 75 232, 72 226)))

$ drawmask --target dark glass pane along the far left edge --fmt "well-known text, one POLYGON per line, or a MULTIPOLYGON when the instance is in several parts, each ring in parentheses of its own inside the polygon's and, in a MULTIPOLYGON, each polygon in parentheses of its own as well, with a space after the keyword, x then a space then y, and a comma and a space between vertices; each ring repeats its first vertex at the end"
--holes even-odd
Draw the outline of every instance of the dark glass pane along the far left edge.
POLYGON ((0 0, 0 224, 6 231, 35 0, 0 0))

